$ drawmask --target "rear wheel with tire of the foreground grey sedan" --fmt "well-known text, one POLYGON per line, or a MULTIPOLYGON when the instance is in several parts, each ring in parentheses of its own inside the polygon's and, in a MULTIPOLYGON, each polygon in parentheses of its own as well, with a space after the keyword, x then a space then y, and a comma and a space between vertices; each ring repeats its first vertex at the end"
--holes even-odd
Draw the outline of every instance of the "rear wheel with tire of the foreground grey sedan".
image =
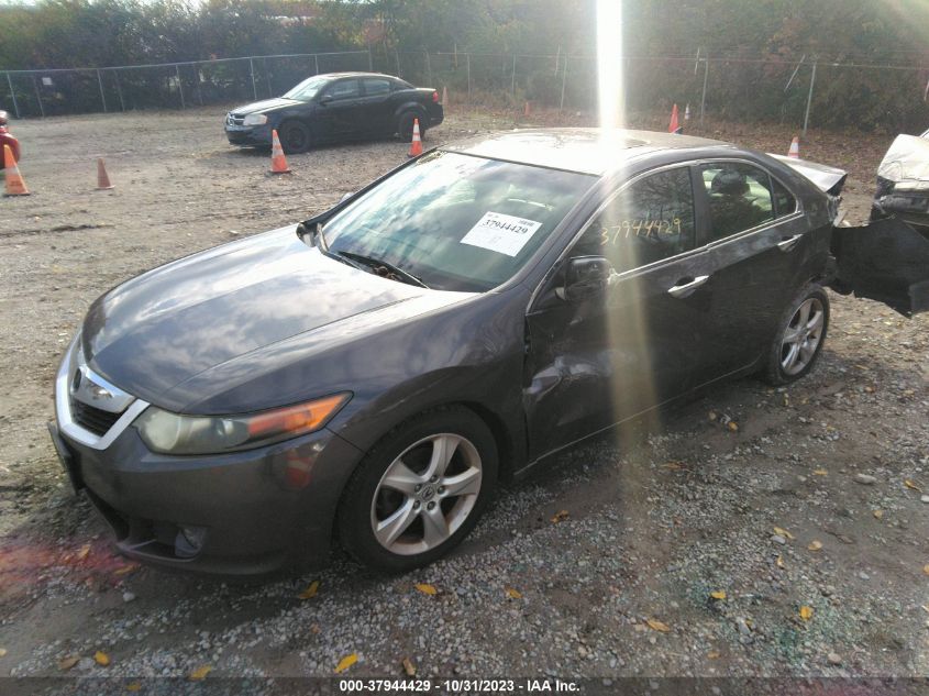
POLYGON ((829 296, 817 284, 806 285, 790 302, 768 350, 764 378, 781 386, 796 382, 816 364, 829 331, 829 296))

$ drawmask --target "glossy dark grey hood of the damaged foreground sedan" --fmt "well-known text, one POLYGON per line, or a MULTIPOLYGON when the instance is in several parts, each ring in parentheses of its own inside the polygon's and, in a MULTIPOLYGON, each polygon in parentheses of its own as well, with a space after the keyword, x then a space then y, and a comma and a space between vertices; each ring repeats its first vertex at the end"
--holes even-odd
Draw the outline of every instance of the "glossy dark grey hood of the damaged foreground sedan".
POLYGON ((236 357, 323 328, 331 347, 469 297, 353 268, 307 246, 295 229, 188 256, 107 292, 84 325, 90 366, 146 401, 180 408, 162 397, 236 357))

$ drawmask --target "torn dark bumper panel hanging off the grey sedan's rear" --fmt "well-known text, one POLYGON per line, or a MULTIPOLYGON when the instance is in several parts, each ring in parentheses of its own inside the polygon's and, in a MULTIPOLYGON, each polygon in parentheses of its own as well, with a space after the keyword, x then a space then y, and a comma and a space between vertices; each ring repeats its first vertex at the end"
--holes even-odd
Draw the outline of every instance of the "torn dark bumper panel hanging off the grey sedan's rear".
POLYGON ((929 239, 897 218, 836 228, 832 289, 884 302, 906 317, 929 311, 929 239))

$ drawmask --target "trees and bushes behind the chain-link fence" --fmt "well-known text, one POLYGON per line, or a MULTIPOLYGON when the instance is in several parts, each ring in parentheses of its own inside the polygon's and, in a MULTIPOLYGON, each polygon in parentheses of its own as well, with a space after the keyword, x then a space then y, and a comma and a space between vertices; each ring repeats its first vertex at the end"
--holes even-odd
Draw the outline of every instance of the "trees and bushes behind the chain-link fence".
MULTIPOLYGON (((704 64, 694 70, 699 47, 712 59, 710 114, 801 123, 816 62, 817 125, 897 132, 924 130, 929 121, 922 98, 929 68, 874 67, 929 66, 925 0, 626 0, 622 7, 623 53, 634 57, 624 66, 630 109, 664 110, 673 102, 696 109, 704 80, 704 64)), ((567 54, 566 106, 593 108, 596 22, 595 0, 37 0, 0 5, 0 71, 371 49, 375 68, 421 84, 508 97, 512 90, 515 102, 557 104, 567 54), (471 81, 456 52, 471 53, 471 81), (512 54, 519 56, 516 79, 512 54)), ((342 64, 320 65, 336 67, 342 64)), ((367 67, 367 58, 356 67, 367 67)), ((180 80, 167 68, 152 68, 147 77, 123 71, 119 79, 123 97, 131 92, 134 106, 145 106, 181 87, 201 100, 210 90, 279 93, 314 69, 306 59, 261 62, 254 87, 247 62, 204 65, 199 76, 191 68, 180 80)), ((24 101, 34 91, 29 79, 18 78, 24 101)), ((74 100, 99 100, 78 96, 92 87, 92 71, 55 79, 52 107, 64 93, 57 82, 70 81, 74 100)), ((117 78, 107 79, 108 98, 115 99, 117 78)))

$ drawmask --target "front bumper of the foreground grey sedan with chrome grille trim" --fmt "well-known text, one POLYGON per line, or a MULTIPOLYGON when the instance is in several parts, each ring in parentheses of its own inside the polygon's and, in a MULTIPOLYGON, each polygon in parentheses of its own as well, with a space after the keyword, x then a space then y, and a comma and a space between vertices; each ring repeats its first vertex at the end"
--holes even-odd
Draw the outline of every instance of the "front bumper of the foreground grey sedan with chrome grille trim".
MULTIPOLYGON (((222 575, 327 562, 339 496, 362 452, 325 428, 203 456, 150 451, 128 417, 103 435, 82 431, 68 398, 78 355, 69 350, 59 371, 57 422, 49 431, 73 485, 87 491, 112 528, 120 553, 222 575), (198 540, 192 548, 190 532, 198 540)), ((144 410, 136 400, 125 413, 140 404, 144 410)))

